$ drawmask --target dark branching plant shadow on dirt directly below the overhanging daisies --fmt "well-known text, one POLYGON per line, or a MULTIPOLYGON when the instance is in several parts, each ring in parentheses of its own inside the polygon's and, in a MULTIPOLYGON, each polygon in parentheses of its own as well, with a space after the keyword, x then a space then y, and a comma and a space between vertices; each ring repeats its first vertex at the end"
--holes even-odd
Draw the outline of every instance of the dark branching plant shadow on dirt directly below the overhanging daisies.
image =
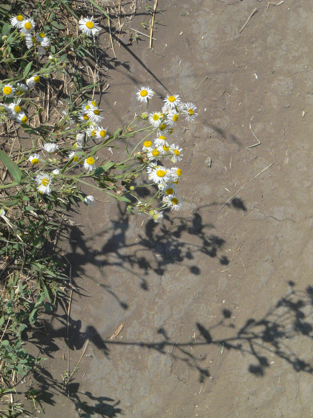
MULTIPOLYGON (((216 233, 213 224, 204 222, 201 207, 195 209, 190 219, 174 216, 173 212, 168 216, 168 210, 164 211, 164 219, 159 224, 143 217, 144 229, 137 234, 131 230, 127 232, 132 216, 126 212, 124 205, 119 204, 118 210, 116 219, 110 220, 111 225, 92 237, 84 237, 81 229, 71 228, 69 241, 72 251, 66 257, 72 265, 73 277, 88 277, 87 263, 98 266, 102 275, 105 275, 107 266, 112 266, 136 276, 141 281, 140 287, 148 290, 147 277, 151 271, 163 275, 173 263, 181 263, 190 273, 199 275, 200 268, 192 262, 199 253, 216 258, 221 265, 229 263, 222 252, 225 240, 216 233), (95 254, 93 241, 99 243, 103 237, 105 242, 95 254)), ((91 276, 88 278, 94 280, 91 276)), ((105 283, 101 286, 112 293, 105 283)))

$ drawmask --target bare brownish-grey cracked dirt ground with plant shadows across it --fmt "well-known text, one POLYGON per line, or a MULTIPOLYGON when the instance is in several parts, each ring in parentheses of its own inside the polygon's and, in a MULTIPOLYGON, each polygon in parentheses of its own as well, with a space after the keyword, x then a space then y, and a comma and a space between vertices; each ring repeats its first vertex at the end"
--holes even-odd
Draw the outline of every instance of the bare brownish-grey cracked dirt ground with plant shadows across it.
MULTIPOLYGON (((149 16, 139 6, 131 25, 141 30, 149 16)), ((160 0, 163 56, 148 38, 116 44, 102 98, 112 132, 136 111, 141 85, 199 108, 176 131, 186 200, 158 225, 113 201, 82 208, 67 254, 80 288, 71 370, 90 342, 61 396, 60 309, 48 326, 52 358, 33 380, 47 416, 313 414, 313 3, 267 6, 160 0)))

